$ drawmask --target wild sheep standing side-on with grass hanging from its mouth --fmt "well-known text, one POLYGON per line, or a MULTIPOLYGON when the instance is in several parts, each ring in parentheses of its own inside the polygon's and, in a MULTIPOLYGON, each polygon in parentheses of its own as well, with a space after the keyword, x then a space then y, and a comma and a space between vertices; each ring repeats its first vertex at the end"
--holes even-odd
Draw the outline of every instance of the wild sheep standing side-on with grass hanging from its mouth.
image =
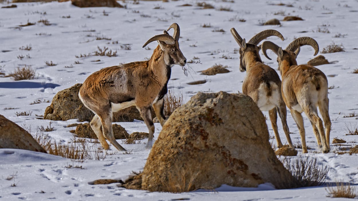
POLYGON ((165 123, 164 95, 168 91, 171 67, 184 66, 187 62, 179 49, 179 25, 173 23, 167 31, 153 36, 143 45, 144 48, 153 41, 159 43, 149 60, 98 70, 89 75, 79 89, 84 106, 95 113, 90 124, 103 148, 109 148, 105 140, 108 139, 119 151, 125 151, 113 136, 112 112, 136 106, 149 129, 147 147, 153 144, 152 105, 160 124, 165 123), (171 28, 174 29, 173 37, 167 32, 171 28))

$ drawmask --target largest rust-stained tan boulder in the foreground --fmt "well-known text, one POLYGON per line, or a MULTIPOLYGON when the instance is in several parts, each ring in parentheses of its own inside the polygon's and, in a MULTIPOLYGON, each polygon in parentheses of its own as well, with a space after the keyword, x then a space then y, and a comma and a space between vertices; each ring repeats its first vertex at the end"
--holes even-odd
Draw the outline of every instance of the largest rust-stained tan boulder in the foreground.
POLYGON ((289 188, 296 182, 277 160, 255 102, 226 92, 198 93, 176 109, 135 181, 143 190, 168 192, 265 182, 289 188))

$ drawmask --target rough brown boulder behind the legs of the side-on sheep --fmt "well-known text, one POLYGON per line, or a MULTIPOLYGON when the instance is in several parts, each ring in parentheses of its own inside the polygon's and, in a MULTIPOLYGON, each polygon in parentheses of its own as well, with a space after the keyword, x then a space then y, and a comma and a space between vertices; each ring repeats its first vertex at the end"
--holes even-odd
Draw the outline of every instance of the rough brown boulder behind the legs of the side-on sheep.
MULTIPOLYGON (((86 108, 78 98, 81 86, 82 84, 75 84, 58 92, 53 97, 51 105, 45 109, 44 119, 52 121, 67 121, 68 119, 78 119, 81 122, 91 121, 95 114, 86 108)), ((154 117, 153 109, 152 114, 154 117)), ((113 122, 132 122, 134 119, 143 120, 135 106, 113 113, 113 122)))

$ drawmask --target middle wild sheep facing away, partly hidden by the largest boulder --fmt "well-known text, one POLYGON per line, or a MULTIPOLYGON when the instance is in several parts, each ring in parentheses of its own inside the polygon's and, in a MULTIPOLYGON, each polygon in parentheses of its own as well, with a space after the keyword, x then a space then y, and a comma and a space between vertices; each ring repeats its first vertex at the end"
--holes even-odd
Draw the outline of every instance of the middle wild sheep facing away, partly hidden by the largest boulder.
POLYGON ((246 70, 246 77, 242 84, 242 93, 250 96, 261 111, 269 111, 272 128, 275 132, 277 146, 282 147, 282 142, 277 129, 277 112, 281 118, 282 126, 286 134, 290 148, 295 149, 286 121, 286 105, 281 94, 281 80, 274 69, 262 63, 260 58, 260 41, 269 36, 284 37, 276 30, 264 30, 253 36, 248 43, 242 39, 237 31, 232 28, 231 33, 240 46, 240 71, 246 70))

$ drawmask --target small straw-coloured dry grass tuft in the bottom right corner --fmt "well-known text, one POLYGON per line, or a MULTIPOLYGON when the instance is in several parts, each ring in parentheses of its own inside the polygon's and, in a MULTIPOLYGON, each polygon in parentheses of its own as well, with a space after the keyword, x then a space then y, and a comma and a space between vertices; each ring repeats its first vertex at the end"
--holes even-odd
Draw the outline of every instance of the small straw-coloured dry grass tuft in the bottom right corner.
POLYGON ((358 196, 355 190, 356 189, 354 187, 351 187, 349 183, 345 184, 343 182, 338 181, 336 182, 336 186, 326 188, 329 197, 355 198, 358 196))

